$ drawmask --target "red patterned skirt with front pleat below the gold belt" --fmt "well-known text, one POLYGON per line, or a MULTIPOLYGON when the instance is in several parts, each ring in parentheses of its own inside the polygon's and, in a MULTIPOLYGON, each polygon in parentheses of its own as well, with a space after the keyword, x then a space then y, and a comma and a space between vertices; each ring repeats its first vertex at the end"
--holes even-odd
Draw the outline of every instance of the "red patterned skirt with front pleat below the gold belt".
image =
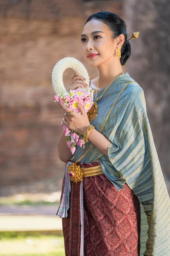
MULTIPOLYGON (((71 182, 68 217, 62 218, 65 256, 82 256, 79 193, 80 182, 71 182)), ((83 177, 83 204, 84 256, 139 256, 140 202, 127 183, 119 191, 105 174, 83 177)))

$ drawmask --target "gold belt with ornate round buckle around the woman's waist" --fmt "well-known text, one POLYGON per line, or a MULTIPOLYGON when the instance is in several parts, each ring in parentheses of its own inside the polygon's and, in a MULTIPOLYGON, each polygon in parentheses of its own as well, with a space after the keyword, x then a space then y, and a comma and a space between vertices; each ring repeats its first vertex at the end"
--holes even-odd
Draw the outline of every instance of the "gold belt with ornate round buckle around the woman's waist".
POLYGON ((79 165, 74 166, 74 169, 69 169, 68 166, 68 175, 70 176, 70 180, 74 182, 79 182, 82 180, 82 177, 89 177, 94 175, 99 175, 104 173, 102 167, 99 166, 92 166, 88 168, 81 168, 79 165))

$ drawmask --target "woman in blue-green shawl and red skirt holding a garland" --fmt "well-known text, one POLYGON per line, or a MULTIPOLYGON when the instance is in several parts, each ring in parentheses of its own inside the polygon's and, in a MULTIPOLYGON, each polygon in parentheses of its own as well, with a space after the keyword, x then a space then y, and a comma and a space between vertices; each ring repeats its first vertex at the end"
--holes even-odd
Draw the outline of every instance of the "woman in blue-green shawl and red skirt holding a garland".
MULTIPOLYGON (((84 173, 95 168, 100 171, 83 176, 78 183, 70 181, 65 172, 57 212, 63 217, 65 255, 169 256, 170 198, 144 92, 122 71, 130 57, 125 21, 111 12, 91 15, 81 40, 85 58, 99 69, 99 77, 91 81, 98 113, 90 123, 82 105, 78 105, 79 114, 60 104, 66 112, 62 122, 83 136, 93 125, 85 149, 76 146, 72 161, 84 173)), ((86 86, 78 74, 71 79, 71 89, 86 86)), ((67 171, 73 156, 64 133, 58 150, 67 171)))

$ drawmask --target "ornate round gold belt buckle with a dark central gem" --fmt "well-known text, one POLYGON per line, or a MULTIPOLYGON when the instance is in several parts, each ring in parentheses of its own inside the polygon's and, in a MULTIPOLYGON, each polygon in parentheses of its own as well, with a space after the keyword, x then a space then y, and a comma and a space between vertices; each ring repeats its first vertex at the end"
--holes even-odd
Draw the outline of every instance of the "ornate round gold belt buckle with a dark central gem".
POLYGON ((68 165, 68 172, 67 174, 70 177, 71 181, 74 181, 75 183, 78 183, 79 181, 82 181, 83 172, 76 163, 72 163, 71 165, 68 165))

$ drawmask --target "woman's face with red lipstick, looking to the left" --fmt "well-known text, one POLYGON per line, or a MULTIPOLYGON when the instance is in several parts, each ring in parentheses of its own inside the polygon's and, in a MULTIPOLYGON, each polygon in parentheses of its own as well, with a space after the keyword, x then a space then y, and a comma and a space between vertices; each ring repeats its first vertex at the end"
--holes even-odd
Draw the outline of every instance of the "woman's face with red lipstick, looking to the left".
POLYGON ((92 67, 98 66, 111 58, 116 58, 119 38, 113 39, 109 27, 100 20, 92 19, 85 24, 81 41, 83 55, 92 67), (97 55, 88 56, 91 53, 97 55))

